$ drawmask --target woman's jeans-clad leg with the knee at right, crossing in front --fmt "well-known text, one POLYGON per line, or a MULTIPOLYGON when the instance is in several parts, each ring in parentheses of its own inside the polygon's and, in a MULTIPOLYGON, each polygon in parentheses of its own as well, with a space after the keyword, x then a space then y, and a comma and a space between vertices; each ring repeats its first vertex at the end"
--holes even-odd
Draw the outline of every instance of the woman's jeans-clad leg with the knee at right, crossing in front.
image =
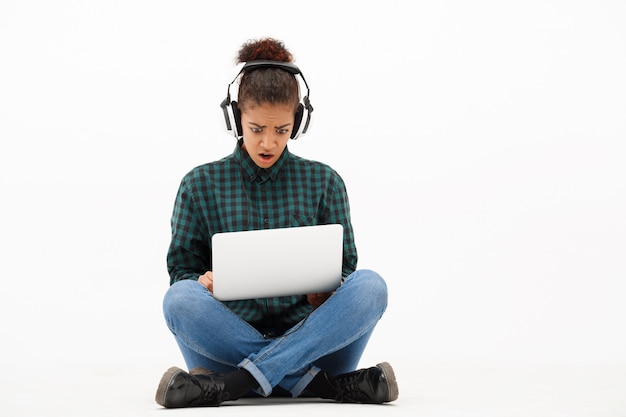
POLYGON ((256 378, 265 395, 280 384, 298 396, 320 370, 312 365, 318 361, 334 368, 329 373, 353 370, 386 307, 384 280, 373 271, 356 271, 305 320, 238 366, 256 378))

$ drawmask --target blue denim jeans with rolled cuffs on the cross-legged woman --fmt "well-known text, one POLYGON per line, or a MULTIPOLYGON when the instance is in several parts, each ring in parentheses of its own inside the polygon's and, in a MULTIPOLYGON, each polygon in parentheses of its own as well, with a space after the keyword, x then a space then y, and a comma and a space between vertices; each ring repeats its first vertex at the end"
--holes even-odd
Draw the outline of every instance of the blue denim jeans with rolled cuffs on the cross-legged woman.
POLYGON ((387 286, 359 270, 309 316, 276 337, 264 336, 197 281, 173 284, 163 300, 167 326, 189 369, 226 373, 244 368, 268 396, 279 386, 297 397, 320 371, 356 369, 387 307, 387 286))

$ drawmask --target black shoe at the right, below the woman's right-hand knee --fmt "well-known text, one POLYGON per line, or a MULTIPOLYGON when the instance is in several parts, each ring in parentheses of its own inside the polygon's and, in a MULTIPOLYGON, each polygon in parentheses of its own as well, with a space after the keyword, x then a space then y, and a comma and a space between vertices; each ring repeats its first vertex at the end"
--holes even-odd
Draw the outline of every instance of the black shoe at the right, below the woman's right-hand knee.
POLYGON ((336 401, 343 403, 382 404, 398 398, 398 384, 387 362, 335 377, 336 401))

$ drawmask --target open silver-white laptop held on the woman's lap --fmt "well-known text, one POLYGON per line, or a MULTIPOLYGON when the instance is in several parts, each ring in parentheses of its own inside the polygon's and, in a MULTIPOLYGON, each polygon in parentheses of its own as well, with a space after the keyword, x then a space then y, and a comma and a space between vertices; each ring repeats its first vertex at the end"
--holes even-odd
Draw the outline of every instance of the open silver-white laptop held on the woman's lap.
POLYGON ((330 292, 341 283, 340 224, 216 233, 212 246, 221 301, 330 292))

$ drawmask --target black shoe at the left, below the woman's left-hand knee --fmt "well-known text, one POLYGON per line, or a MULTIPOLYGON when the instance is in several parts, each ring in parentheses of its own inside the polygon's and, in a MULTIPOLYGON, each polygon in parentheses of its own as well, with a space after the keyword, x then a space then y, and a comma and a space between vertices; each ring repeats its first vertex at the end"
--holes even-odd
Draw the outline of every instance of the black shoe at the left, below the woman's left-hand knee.
POLYGON ((177 367, 163 374, 156 393, 156 402, 166 408, 218 406, 224 400, 222 374, 206 371, 192 375, 177 367))

